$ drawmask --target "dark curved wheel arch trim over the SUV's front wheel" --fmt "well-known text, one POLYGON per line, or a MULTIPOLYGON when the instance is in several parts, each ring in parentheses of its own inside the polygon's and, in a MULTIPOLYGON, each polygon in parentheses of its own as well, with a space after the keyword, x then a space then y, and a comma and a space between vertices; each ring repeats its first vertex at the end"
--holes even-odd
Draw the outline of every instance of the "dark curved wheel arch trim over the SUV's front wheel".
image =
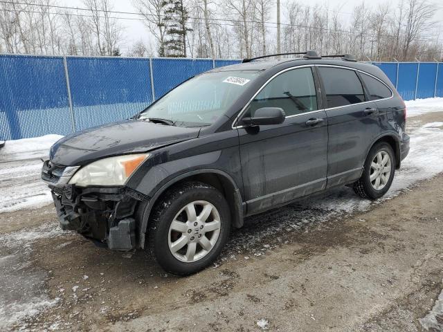
POLYGON ((163 184, 150 200, 147 200, 138 206, 136 210, 136 222, 138 223, 139 247, 144 248, 145 246, 145 233, 147 232, 152 208, 154 208, 155 204, 161 199, 161 196, 167 190, 174 187, 174 185, 186 181, 199 181, 219 190, 228 202, 232 225, 235 228, 241 228, 243 226, 243 216, 246 204, 242 201, 242 195, 233 178, 220 169, 197 169, 172 178, 170 181, 163 184))

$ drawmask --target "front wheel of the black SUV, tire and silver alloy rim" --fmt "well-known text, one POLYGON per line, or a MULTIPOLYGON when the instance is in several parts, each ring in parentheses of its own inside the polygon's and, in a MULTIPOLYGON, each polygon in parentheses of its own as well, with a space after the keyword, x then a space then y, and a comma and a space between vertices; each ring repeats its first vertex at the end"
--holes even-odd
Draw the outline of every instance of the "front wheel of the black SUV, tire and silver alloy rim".
POLYGON ((228 240, 228 203, 206 183, 182 183, 156 203, 148 232, 151 255, 165 271, 182 276, 197 273, 215 261, 228 240))

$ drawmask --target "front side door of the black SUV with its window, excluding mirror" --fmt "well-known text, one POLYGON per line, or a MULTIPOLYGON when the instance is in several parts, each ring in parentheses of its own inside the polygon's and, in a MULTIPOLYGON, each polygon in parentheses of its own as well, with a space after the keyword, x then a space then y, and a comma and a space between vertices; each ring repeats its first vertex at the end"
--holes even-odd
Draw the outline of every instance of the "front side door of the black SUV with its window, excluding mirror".
POLYGON ((242 116, 261 107, 280 107, 286 114, 282 124, 237 129, 248 214, 325 188, 327 116, 317 91, 311 67, 284 71, 242 116))

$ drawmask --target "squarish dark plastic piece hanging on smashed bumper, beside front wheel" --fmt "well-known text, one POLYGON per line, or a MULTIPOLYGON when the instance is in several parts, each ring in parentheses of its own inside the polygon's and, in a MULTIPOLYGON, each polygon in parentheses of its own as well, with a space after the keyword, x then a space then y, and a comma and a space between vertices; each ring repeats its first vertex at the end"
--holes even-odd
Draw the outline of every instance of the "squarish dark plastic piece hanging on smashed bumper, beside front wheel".
POLYGON ((134 218, 120 220, 109 229, 108 247, 112 250, 132 250, 136 248, 136 221, 134 218))

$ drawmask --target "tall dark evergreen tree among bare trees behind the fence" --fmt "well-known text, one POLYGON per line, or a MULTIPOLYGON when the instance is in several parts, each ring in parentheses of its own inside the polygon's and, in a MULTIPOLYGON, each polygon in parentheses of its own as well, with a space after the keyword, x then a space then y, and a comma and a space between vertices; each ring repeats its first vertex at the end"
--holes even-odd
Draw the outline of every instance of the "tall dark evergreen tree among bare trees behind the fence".
POLYGON ((165 0, 165 21, 168 24, 168 40, 165 45, 170 57, 186 57, 186 33, 192 31, 188 24, 189 12, 183 4, 183 0, 165 0))

